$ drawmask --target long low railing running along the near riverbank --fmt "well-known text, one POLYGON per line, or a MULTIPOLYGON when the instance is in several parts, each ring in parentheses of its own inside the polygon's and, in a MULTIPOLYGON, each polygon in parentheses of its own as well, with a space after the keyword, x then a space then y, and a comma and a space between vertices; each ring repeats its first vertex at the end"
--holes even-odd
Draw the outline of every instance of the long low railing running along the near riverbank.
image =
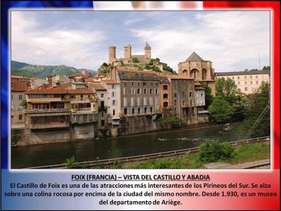
MULTIPOLYGON (((264 136, 254 139, 247 139, 247 140, 240 140, 240 141, 232 141, 229 142, 231 146, 237 146, 240 143, 255 143, 260 141, 269 141, 270 136, 264 136)), ((93 161, 85 161, 85 162, 78 162, 79 167, 95 167, 98 165, 112 165, 116 160, 119 163, 122 162, 131 162, 131 161, 139 161, 139 160, 150 160, 154 158, 165 158, 165 157, 171 157, 175 155, 182 155, 182 154, 189 154, 189 153, 196 153, 199 151, 199 147, 195 148, 186 148, 182 150, 177 151, 166 151, 162 153, 152 153, 147 155, 136 155, 136 156, 130 156, 125 158, 110 158, 106 160, 93 160, 93 161)), ((59 165, 45 165, 45 166, 39 166, 39 167, 29 167, 27 169, 64 169, 65 165, 59 164, 59 165)))

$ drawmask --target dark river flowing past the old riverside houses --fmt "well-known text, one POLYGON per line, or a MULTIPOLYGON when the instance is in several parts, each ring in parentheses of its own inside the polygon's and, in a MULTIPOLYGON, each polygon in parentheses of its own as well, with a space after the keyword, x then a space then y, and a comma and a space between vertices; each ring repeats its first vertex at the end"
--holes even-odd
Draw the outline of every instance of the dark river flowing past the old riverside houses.
POLYGON ((122 158, 164 151, 192 148, 200 143, 217 139, 218 141, 237 141, 239 124, 226 126, 211 123, 191 125, 184 129, 170 129, 132 136, 105 138, 91 141, 18 146, 11 148, 11 168, 36 167, 62 164, 74 155, 77 162, 122 158))

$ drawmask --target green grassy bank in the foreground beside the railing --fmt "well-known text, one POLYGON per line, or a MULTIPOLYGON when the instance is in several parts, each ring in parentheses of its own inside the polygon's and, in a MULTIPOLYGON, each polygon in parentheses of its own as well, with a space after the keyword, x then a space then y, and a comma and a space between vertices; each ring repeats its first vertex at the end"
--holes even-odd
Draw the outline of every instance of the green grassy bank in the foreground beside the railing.
MULTIPOLYGON (((245 143, 235 148, 233 158, 228 160, 231 164, 251 162, 270 158, 270 143, 245 143)), ((204 168, 206 163, 201 162, 199 153, 183 155, 181 158, 161 158, 141 162, 131 162, 122 165, 124 169, 198 169, 204 168)))

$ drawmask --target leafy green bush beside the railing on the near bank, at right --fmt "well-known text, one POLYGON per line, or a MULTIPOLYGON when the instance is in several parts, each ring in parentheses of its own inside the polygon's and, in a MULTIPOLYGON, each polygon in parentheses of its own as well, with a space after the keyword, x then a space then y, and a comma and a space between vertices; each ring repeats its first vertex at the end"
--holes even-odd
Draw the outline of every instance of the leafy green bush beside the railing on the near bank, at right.
POLYGON ((218 141, 205 141, 199 147, 201 162, 226 161, 233 157, 234 148, 227 141, 220 144, 218 141))

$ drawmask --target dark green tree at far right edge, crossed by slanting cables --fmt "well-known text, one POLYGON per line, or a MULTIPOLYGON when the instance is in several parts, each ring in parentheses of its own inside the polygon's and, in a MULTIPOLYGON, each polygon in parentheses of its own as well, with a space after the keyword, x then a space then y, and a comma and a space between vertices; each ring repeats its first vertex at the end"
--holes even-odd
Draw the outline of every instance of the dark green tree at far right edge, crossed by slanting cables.
MULTIPOLYGON (((251 101, 249 102, 247 114, 245 120, 239 127, 240 136, 246 136, 251 127, 258 120, 264 108, 268 106, 270 93, 270 84, 263 82, 256 93, 251 95, 251 101)), ((261 119, 261 122, 257 124, 254 131, 250 134, 249 138, 269 136, 270 135, 270 110, 261 119)))

